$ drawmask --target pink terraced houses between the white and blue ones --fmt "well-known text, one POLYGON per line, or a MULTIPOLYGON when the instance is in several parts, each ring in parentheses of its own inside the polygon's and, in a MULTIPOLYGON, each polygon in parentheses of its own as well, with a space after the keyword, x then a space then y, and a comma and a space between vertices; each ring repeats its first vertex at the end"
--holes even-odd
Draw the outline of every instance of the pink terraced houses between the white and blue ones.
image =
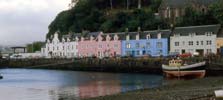
POLYGON ((77 49, 79 57, 114 57, 121 55, 121 41, 117 34, 93 32, 78 40, 77 49))

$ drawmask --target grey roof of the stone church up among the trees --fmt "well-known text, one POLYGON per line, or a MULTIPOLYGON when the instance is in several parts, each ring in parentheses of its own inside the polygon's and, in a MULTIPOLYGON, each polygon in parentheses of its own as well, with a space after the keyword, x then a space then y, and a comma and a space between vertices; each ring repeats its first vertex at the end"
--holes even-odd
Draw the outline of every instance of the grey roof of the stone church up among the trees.
POLYGON ((184 8, 191 4, 208 6, 218 0, 162 0, 160 8, 184 8))

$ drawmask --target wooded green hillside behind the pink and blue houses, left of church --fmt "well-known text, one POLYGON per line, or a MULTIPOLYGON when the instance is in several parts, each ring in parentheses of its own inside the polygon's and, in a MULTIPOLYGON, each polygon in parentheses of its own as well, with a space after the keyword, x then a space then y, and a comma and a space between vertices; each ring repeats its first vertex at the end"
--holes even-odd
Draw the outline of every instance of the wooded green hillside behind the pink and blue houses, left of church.
POLYGON ((141 0, 139 9, 138 0, 79 0, 75 7, 57 15, 49 25, 47 37, 56 31, 61 36, 83 30, 118 32, 126 28, 130 31, 138 27, 142 30, 166 28, 167 24, 154 15, 160 3, 161 0, 141 0))

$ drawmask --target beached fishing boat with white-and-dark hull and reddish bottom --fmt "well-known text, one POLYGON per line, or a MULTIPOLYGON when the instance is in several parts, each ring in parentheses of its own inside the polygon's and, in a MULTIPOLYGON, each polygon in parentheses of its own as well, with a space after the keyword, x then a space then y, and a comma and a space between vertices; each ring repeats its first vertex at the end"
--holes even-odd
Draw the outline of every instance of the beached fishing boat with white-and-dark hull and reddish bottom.
POLYGON ((169 65, 162 65, 163 73, 167 78, 203 78, 205 76, 205 61, 186 64, 182 60, 172 59, 169 65))

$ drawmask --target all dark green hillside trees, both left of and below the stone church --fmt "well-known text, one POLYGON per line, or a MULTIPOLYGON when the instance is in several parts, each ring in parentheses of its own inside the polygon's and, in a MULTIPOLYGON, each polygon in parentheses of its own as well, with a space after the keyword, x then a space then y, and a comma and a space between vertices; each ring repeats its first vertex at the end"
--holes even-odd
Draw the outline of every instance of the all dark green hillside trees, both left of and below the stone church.
MULTIPOLYGON (((49 25, 49 38, 56 31, 59 36, 82 31, 120 32, 169 28, 167 21, 155 16, 162 0, 78 0, 76 5, 59 13, 49 25), (139 2, 140 1, 140 2, 139 2)), ((223 4, 210 6, 208 13, 188 8, 175 26, 223 23, 223 4)))

